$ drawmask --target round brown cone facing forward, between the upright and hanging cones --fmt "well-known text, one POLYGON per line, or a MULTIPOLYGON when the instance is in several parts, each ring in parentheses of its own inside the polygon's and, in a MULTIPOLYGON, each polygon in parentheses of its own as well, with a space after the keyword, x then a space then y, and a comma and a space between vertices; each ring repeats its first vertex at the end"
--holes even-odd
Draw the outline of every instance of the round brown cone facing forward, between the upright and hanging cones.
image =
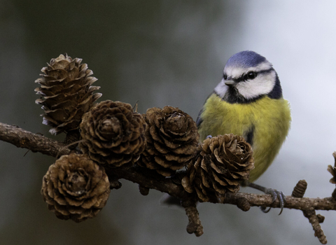
POLYGON ((85 113, 80 130, 83 153, 110 167, 132 166, 146 146, 144 118, 123 102, 100 102, 85 113))

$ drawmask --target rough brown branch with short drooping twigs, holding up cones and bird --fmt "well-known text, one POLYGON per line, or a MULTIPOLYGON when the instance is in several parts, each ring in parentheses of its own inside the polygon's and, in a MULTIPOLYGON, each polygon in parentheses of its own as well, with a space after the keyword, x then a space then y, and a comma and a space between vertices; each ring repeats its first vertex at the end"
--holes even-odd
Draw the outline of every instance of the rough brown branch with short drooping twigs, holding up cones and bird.
MULTIPOLYGON (((52 157, 56 157, 57 155, 68 155, 71 152, 64 143, 22 130, 18 126, 6 125, 4 123, 0 123, 0 140, 20 148, 27 148, 33 152, 43 153, 52 157)), ((176 183, 174 178, 165 178, 150 169, 137 166, 128 169, 124 169, 123 167, 106 168, 106 174, 108 174, 110 182, 114 183, 111 188, 120 188, 118 179, 127 179, 128 181, 138 183, 140 190, 145 194, 147 193, 145 191, 146 189, 155 189, 183 200, 182 204, 183 207, 185 207, 186 214, 189 218, 189 225, 187 227, 188 232, 193 232, 197 236, 202 235, 202 225, 200 224, 198 211, 195 206, 196 197, 193 193, 187 193, 183 186, 181 186, 181 183, 176 183)), ((279 207, 279 200, 273 202, 270 195, 227 193, 224 199, 218 200, 216 197, 213 197, 210 198, 210 200, 213 200, 214 203, 237 205, 237 207, 243 211, 248 211, 249 206, 279 207)), ((286 196, 286 204, 284 205, 284 208, 302 210, 304 216, 306 216, 312 224, 315 232, 321 233, 321 227, 318 225, 321 219, 318 219, 315 210, 336 210, 336 202, 332 197, 308 198, 303 197, 303 194, 302 197, 288 195, 286 196), (310 213, 314 214, 308 215, 310 213)), ((323 232, 319 239, 321 243, 326 243, 323 232)))

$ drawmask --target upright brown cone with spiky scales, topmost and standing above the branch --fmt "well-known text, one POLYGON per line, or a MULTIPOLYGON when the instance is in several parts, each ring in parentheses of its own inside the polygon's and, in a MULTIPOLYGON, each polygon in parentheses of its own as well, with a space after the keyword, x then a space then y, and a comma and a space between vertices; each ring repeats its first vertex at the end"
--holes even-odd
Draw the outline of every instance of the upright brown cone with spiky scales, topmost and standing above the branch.
POLYGON ((52 127, 51 134, 78 129, 83 114, 102 96, 93 93, 100 88, 92 86, 97 78, 91 76, 87 64, 80 62, 82 59, 59 55, 41 69, 42 77, 35 81, 41 85, 36 87, 36 94, 42 96, 35 102, 42 105, 43 124, 52 127))

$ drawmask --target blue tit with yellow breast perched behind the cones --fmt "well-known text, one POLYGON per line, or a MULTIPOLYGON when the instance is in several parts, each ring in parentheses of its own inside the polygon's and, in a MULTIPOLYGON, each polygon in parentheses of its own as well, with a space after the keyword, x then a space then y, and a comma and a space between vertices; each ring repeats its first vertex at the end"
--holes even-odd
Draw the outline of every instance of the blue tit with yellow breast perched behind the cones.
POLYGON ((237 52, 228 59, 221 82, 207 97, 196 120, 200 141, 232 133, 251 144, 255 168, 242 186, 272 195, 273 202, 278 198, 280 214, 285 195, 253 182, 276 158, 290 122, 290 105, 283 99, 279 76, 265 57, 251 50, 237 52))

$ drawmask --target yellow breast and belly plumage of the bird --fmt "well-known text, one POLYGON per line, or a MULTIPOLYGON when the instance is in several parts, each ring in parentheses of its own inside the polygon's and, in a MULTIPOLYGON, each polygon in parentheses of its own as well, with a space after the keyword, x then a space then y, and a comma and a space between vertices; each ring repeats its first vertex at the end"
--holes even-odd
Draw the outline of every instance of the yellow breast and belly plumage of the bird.
POLYGON ((212 94, 201 114, 200 139, 208 135, 238 134, 246 138, 253 132, 255 169, 249 181, 265 172, 279 152, 290 127, 290 108, 286 99, 263 97, 249 104, 229 104, 212 94))

